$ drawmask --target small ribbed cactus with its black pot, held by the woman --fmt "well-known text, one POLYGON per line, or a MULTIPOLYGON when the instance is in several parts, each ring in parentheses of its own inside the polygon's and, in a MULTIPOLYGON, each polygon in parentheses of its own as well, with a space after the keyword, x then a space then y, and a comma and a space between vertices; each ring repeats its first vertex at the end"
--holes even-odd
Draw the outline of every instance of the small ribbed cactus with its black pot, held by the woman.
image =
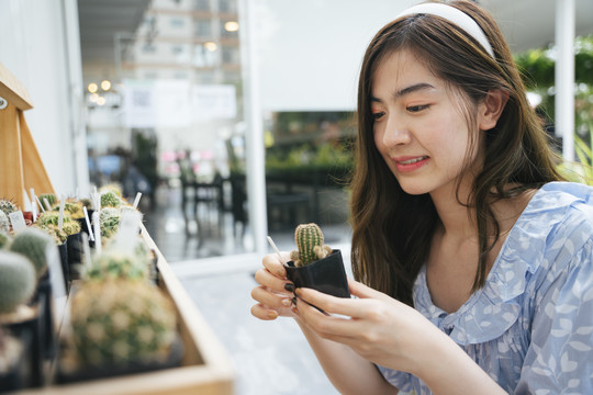
POLYGON ((320 292, 350 297, 342 252, 324 245, 323 232, 316 224, 301 224, 294 230, 298 250, 284 264, 287 278, 296 287, 311 287, 320 292))

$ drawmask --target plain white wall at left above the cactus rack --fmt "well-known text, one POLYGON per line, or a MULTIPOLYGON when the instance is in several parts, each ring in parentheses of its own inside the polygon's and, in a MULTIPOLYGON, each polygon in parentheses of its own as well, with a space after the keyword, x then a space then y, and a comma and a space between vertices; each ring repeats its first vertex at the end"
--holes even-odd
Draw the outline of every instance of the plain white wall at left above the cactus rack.
POLYGON ((25 119, 57 193, 88 189, 76 10, 76 0, 0 0, 0 63, 30 92, 25 119))

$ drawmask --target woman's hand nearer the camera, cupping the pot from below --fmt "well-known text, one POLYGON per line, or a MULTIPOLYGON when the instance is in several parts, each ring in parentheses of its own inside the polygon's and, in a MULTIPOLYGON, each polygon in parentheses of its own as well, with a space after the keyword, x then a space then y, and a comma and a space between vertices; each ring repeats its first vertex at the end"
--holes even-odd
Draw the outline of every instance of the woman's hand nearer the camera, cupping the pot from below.
POLYGON ((444 334, 414 308, 354 280, 348 285, 358 298, 298 289, 294 314, 320 337, 349 346, 371 362, 418 372, 430 358, 432 342, 444 334))

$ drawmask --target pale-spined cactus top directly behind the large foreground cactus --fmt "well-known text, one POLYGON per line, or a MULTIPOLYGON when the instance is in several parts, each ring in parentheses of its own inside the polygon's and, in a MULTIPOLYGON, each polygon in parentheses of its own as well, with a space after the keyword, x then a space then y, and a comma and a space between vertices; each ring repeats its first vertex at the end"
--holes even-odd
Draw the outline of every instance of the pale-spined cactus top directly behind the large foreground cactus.
POLYGON ((133 253, 115 248, 103 250, 92 260, 91 267, 85 273, 86 280, 147 280, 148 264, 133 253))

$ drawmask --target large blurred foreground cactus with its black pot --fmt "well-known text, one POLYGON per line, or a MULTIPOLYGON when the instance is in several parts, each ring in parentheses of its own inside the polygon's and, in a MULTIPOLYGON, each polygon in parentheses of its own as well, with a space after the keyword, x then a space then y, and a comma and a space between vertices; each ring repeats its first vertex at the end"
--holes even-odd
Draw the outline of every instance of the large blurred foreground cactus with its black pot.
POLYGON ((141 373, 181 362, 175 307, 148 282, 85 282, 74 294, 70 320, 58 382, 141 373))

